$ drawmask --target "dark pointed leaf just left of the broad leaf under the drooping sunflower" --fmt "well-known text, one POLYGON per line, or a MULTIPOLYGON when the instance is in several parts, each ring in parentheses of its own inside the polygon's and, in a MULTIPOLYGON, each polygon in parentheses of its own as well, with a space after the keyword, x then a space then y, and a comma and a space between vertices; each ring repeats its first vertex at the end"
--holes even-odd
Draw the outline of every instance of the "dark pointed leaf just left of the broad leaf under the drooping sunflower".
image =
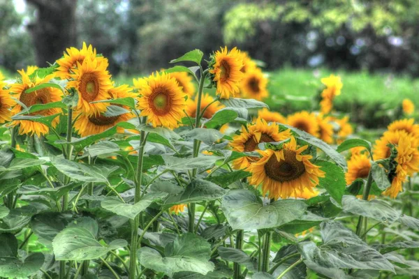
POLYGON ((186 204, 189 202, 212 201, 226 194, 226 190, 203 179, 195 179, 177 195, 170 195, 165 204, 186 204))

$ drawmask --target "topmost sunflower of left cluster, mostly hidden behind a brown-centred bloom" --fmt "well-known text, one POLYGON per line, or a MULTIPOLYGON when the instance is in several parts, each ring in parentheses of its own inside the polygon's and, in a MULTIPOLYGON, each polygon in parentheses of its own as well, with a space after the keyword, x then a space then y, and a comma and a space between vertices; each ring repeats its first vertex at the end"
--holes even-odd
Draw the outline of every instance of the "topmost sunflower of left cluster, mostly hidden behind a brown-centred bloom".
POLYGON ((57 60, 57 64, 59 65, 56 72, 57 77, 63 80, 70 79, 75 72, 75 68, 78 68, 78 63, 82 65, 86 57, 91 61, 96 60, 98 65, 102 64, 102 68, 108 68, 108 59, 102 56, 96 57, 96 48, 93 48, 91 45, 87 47, 86 43, 83 42, 81 50, 70 47, 64 52, 63 58, 57 60))

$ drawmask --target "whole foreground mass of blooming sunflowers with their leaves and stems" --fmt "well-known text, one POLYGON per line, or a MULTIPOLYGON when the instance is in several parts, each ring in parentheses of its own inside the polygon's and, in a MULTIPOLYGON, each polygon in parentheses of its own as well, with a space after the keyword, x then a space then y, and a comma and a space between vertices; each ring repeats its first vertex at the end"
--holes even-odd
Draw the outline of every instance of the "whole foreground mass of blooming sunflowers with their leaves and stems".
POLYGON ((410 100, 369 142, 337 75, 283 115, 236 47, 170 63, 117 84, 84 43, 0 75, 0 278, 418 278, 410 100))

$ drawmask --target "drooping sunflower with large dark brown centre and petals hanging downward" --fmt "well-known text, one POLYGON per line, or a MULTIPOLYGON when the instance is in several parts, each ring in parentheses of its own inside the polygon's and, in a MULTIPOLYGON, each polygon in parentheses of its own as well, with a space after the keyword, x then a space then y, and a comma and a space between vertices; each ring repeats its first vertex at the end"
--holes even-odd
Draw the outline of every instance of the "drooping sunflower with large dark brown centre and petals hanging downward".
POLYGON ((279 151, 259 150, 262 158, 247 168, 251 172, 249 183, 256 187, 262 184, 263 195, 269 192, 268 196, 274 199, 299 195, 305 188, 312 190, 325 172, 310 162, 311 155, 302 154, 307 148, 298 146, 295 137, 291 137, 291 142, 279 151))

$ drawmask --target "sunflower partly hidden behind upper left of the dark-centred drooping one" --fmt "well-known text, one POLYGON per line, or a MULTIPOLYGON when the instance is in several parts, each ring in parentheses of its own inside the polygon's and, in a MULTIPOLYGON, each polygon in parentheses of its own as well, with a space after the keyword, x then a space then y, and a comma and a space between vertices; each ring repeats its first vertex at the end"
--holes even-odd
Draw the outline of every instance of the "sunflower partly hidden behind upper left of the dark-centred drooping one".
MULTIPOLYGON (((256 119, 255 124, 249 123, 246 128, 242 127, 242 133, 233 137, 230 146, 237 152, 251 152, 258 149, 260 142, 279 142, 291 137, 291 131, 279 132, 277 123, 268 125, 263 119, 256 119)), ((245 156, 233 161, 234 169, 244 169, 258 160, 257 157, 245 156)))

